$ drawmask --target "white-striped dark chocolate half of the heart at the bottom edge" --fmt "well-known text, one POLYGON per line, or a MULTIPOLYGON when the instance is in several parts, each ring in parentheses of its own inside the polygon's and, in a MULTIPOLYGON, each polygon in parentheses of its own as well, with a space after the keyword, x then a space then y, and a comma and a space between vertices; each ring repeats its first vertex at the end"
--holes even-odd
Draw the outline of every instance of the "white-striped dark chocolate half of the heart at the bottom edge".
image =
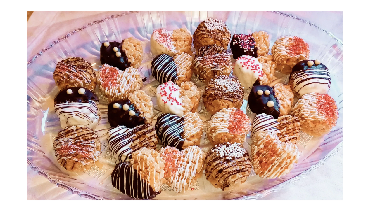
POLYGON ((129 162, 119 163, 111 174, 112 186, 135 199, 153 199, 160 192, 150 187, 129 162))

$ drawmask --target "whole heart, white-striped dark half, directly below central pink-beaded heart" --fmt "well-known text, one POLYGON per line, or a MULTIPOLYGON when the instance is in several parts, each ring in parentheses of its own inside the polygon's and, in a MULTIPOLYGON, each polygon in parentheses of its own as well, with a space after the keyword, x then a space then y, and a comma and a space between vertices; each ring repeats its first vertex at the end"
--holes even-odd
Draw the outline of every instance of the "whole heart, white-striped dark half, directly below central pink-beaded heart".
POLYGON ((161 114, 155 125, 158 138, 164 146, 179 150, 199 145, 203 133, 203 121, 198 113, 187 112, 179 117, 174 114, 161 114))

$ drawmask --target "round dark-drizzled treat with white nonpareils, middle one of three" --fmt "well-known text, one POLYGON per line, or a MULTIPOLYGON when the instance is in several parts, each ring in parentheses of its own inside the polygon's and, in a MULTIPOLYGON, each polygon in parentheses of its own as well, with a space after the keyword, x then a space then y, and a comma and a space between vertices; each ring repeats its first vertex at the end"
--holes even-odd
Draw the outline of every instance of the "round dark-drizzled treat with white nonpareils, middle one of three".
POLYGON ((243 104, 244 87, 239 81, 229 78, 226 75, 220 75, 213 78, 206 85, 203 94, 203 103, 207 111, 211 114, 222 110, 223 108, 240 109, 243 104))

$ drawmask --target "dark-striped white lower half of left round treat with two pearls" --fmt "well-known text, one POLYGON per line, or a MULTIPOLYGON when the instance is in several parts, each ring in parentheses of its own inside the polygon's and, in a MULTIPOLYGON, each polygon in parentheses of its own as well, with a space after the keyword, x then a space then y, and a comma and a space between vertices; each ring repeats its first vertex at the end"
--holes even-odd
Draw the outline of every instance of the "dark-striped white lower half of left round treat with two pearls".
POLYGON ((98 107, 92 100, 57 103, 54 105, 54 110, 62 128, 84 125, 92 129, 99 121, 98 107))

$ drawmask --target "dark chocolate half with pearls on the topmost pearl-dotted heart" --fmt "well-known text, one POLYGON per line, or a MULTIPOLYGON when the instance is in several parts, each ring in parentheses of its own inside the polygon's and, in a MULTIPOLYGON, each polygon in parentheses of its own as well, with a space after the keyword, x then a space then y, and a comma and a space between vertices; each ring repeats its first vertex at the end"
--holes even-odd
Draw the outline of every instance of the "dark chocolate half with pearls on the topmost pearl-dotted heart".
POLYGON ((102 43, 100 47, 100 63, 109 64, 123 71, 127 67, 130 67, 131 63, 128 62, 128 57, 122 49, 122 45, 123 44, 120 42, 111 41, 109 42, 109 46, 106 47, 104 46, 104 43, 102 43), (121 53, 120 57, 116 56, 116 52, 114 52, 114 47, 117 47, 118 51, 121 53))

